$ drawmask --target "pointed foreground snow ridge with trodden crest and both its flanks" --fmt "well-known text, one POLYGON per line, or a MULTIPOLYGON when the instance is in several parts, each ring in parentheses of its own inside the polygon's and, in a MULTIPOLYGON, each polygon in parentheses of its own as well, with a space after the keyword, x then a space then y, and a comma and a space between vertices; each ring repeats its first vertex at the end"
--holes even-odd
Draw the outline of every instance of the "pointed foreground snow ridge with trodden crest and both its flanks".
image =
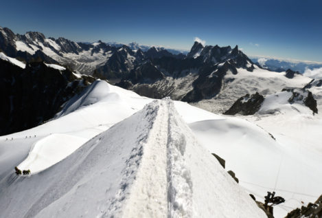
POLYGON ((146 105, 46 171, 3 181, 3 217, 265 217, 170 100, 146 105))

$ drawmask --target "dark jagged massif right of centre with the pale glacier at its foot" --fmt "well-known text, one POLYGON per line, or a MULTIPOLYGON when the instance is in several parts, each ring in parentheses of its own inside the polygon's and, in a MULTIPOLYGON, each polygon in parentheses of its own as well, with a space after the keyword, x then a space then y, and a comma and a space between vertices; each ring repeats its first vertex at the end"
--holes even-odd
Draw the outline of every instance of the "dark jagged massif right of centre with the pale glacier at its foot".
POLYGON ((283 73, 262 69, 238 46, 204 46, 194 42, 186 57, 150 58, 139 63, 117 85, 142 96, 170 96, 222 113, 246 94, 257 91, 266 95, 284 88, 302 88, 311 80, 290 69, 283 73))

